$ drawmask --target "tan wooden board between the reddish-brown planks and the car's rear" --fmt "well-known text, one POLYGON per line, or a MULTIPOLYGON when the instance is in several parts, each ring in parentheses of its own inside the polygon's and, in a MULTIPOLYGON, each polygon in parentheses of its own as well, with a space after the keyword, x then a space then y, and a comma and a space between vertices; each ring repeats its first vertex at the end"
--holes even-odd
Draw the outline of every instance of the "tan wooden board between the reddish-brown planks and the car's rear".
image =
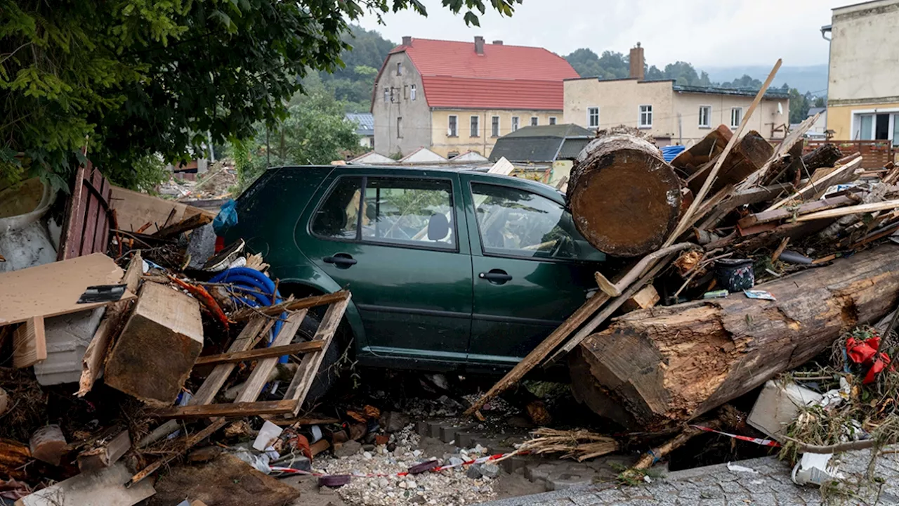
POLYGON ((115 210, 116 221, 120 230, 138 230, 147 222, 152 223, 148 234, 156 232, 165 224, 169 214, 174 210, 173 221, 182 221, 194 214, 209 214, 215 216, 216 212, 209 212, 199 207, 193 207, 185 203, 169 201, 148 194, 132 192, 118 186, 111 187, 110 207, 115 210))

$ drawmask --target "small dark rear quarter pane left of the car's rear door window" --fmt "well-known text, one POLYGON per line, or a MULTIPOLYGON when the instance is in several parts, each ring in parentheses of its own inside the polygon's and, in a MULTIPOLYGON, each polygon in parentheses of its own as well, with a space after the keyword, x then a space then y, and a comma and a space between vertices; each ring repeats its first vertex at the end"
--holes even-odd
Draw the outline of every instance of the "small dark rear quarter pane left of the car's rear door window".
MULTIPOLYGON (((359 239, 361 177, 342 177, 318 206, 312 233, 325 239, 359 239)), ((363 216, 364 218, 364 216, 363 216)), ((365 226, 365 221, 362 221, 365 226)))

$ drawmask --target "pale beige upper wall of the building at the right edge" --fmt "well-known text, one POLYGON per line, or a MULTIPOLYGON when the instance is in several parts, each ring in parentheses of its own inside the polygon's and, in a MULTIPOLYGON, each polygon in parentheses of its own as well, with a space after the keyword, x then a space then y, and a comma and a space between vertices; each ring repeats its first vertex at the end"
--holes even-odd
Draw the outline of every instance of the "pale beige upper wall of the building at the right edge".
POLYGON ((831 36, 828 107, 899 102, 899 1, 834 9, 831 36))

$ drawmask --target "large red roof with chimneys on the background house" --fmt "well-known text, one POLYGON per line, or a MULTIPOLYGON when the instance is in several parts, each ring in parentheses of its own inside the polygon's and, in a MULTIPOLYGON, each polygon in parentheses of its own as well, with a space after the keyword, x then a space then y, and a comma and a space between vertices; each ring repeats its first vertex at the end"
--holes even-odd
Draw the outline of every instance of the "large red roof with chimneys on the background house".
POLYGON ((543 48, 485 43, 479 55, 474 42, 413 39, 389 54, 401 52, 421 74, 431 107, 561 111, 562 80, 577 77, 564 58, 543 48))

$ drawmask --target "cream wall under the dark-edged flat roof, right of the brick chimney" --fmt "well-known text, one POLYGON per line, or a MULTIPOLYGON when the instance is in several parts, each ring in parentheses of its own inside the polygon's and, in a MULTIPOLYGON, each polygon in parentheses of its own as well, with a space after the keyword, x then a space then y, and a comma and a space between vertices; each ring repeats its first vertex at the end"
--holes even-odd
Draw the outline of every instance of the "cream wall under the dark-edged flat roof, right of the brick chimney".
MULTIPOLYGON (((743 115, 749 111, 752 104, 752 96, 740 95, 717 95, 709 93, 683 93, 674 92, 674 115, 675 115, 675 134, 672 138, 672 144, 677 143, 679 138, 682 139, 684 146, 691 146, 696 141, 701 140, 708 135, 711 129, 717 128, 720 124, 731 126, 731 110, 734 107, 742 107, 743 115), (712 114, 709 126, 706 128, 699 127, 699 107, 710 105, 712 114), (677 114, 681 114, 681 132, 677 131, 677 114)), ((789 122, 789 99, 762 99, 759 107, 749 119, 746 125, 746 131, 758 131, 765 139, 782 139, 784 131, 773 131, 784 123, 789 122), (783 113, 778 113, 778 104, 781 104, 783 113)), ((734 127, 735 130, 735 127, 734 127)))

